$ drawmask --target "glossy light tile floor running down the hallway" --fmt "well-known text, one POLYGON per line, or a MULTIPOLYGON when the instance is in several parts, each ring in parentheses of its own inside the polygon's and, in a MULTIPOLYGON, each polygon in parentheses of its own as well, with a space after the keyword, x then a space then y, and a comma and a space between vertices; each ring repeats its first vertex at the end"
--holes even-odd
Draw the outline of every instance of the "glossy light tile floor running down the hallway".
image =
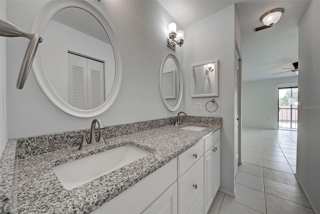
POLYGON ((242 127, 236 197, 218 192, 208 214, 313 213, 293 173, 296 131, 242 127))

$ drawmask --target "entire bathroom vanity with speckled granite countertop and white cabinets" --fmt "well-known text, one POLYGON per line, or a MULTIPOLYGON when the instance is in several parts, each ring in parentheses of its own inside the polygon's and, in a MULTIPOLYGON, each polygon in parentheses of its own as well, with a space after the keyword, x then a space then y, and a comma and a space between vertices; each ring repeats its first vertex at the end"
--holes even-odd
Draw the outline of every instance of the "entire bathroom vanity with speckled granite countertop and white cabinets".
POLYGON ((222 119, 183 116, 181 126, 174 119, 110 126, 105 145, 82 151, 68 132, 8 141, 0 159, 3 205, 13 213, 206 213, 219 187, 222 119), (181 129, 186 125, 205 128, 181 129), (150 154, 69 190, 53 171, 122 145, 150 154))

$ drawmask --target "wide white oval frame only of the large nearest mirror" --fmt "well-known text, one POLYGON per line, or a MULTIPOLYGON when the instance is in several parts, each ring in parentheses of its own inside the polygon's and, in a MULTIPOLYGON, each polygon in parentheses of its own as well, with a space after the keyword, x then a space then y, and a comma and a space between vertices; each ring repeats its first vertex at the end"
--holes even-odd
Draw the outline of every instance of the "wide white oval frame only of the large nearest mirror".
MULTIPOLYGON (((40 57, 40 48, 38 48, 37 54, 33 59, 32 63, 32 70, 35 76, 35 79, 41 88, 44 95, 50 100, 50 102, 55 105, 60 110, 77 117, 93 117, 98 114, 103 113, 106 109, 108 109, 111 104, 114 102, 121 85, 121 78, 122 78, 122 60, 121 55, 119 52, 119 47, 116 41, 115 34, 103 16, 103 14, 95 8, 92 4, 84 1, 84 0, 53 0, 46 3, 35 15, 35 18, 32 22, 31 32, 37 32, 39 35, 44 35, 46 26, 48 25, 49 21, 53 17, 55 13, 59 10, 67 7, 78 7, 81 9, 86 10, 87 12, 91 13, 103 26, 109 39, 111 41, 111 45, 113 48, 114 59, 115 59, 115 76, 114 82, 111 89, 109 96, 104 100, 104 102, 94 108, 89 110, 82 110, 72 107, 67 102, 65 102, 53 89, 50 82, 46 78, 45 72, 43 70, 43 65, 40 57)), ((43 38, 44 40, 45 38, 43 38)))

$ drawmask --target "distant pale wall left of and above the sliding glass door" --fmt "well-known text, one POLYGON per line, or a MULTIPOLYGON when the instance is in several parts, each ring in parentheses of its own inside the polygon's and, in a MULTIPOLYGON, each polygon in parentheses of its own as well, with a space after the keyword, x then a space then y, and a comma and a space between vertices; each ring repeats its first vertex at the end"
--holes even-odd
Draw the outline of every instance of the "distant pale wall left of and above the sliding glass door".
POLYGON ((277 129, 277 83, 297 83, 298 77, 242 82, 242 126, 277 129))

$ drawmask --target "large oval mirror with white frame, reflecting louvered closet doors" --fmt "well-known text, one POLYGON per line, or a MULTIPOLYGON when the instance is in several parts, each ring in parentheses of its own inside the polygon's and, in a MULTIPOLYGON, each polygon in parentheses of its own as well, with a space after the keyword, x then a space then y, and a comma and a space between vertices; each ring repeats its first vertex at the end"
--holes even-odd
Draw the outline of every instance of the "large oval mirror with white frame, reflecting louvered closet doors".
POLYGON ((93 117, 113 103, 121 84, 121 57, 98 9, 84 0, 49 1, 36 14, 31 31, 43 37, 32 70, 56 107, 93 117))

